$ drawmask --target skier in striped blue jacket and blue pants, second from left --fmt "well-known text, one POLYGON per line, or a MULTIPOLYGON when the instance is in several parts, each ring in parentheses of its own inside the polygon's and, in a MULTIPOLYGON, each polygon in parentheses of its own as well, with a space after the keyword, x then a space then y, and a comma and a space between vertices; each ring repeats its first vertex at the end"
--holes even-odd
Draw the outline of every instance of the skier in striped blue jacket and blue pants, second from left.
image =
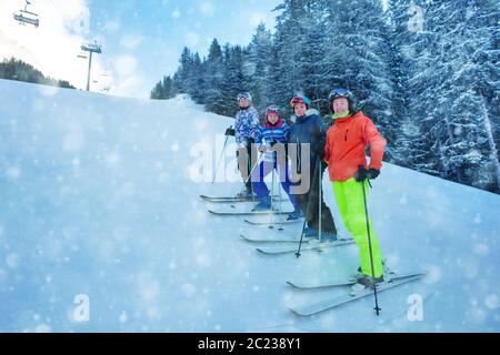
POLYGON ((266 109, 264 122, 259 128, 256 140, 256 146, 264 155, 260 165, 253 170, 251 180, 253 191, 260 200, 252 211, 270 210, 271 197, 269 196, 269 189, 266 185, 264 179, 273 170, 278 172, 281 186, 283 186, 284 192, 293 205, 293 212, 287 217, 287 220, 291 221, 299 219, 301 212, 294 195, 290 194, 291 183, 284 153, 289 129, 289 125, 280 118, 280 108, 276 104, 270 104, 266 109))

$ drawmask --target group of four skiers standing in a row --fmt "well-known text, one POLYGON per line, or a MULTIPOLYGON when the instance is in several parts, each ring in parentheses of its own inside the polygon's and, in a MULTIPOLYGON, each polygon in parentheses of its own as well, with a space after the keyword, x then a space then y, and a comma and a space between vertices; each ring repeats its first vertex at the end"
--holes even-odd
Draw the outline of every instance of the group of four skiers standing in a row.
POLYGON ((294 114, 290 125, 276 104, 267 108, 261 124, 248 92, 238 94, 238 103, 234 130, 228 129, 226 134, 234 135, 238 145, 238 169, 244 181, 239 196, 254 197, 258 202, 253 207, 256 211, 270 210, 272 202, 264 178, 276 171, 293 205, 293 212, 287 219, 306 219, 303 237, 318 239, 321 233, 322 241, 336 241, 337 227, 323 201, 321 184, 328 166, 337 207, 359 247, 361 276, 358 283, 372 287, 373 283, 382 282, 382 256, 368 217, 367 197, 369 180, 380 174, 387 142, 373 122, 361 111, 357 112, 351 92, 346 89, 330 92, 330 126, 303 95, 290 101, 294 114), (366 159, 368 146, 369 164, 366 159), (308 152, 309 164, 304 159, 308 152), (294 173, 300 179, 291 179, 294 173), (298 187, 304 176, 310 183, 303 191, 298 187))

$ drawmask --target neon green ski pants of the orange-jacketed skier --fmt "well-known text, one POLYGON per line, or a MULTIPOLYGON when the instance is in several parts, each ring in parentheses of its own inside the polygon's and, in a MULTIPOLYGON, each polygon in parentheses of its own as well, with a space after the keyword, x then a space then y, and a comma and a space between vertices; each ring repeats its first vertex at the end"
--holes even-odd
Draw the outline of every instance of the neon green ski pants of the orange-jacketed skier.
MULTIPOLYGON (((364 192, 368 200, 368 180, 364 181, 364 192)), ((361 182, 353 178, 342 182, 333 182, 333 194, 337 206, 342 217, 346 229, 352 234, 352 237, 359 247, 359 258, 361 261, 361 272, 363 275, 371 276, 370 247, 368 243, 367 215, 364 213, 364 201, 361 182)), ((382 255, 380 253, 379 241, 370 225, 371 250, 373 254, 374 277, 383 275, 382 255)))

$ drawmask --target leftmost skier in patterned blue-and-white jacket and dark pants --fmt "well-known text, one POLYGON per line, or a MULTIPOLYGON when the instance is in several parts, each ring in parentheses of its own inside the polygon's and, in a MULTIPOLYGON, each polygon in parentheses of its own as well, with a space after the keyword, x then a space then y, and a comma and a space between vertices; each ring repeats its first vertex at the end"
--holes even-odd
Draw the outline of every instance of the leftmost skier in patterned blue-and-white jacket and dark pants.
POLYGON ((239 111, 234 122, 234 140, 238 146, 238 170, 244 182, 244 189, 238 194, 239 197, 253 197, 250 172, 257 160, 257 149, 252 145, 259 130, 259 113, 251 105, 252 97, 249 92, 238 94, 239 111))

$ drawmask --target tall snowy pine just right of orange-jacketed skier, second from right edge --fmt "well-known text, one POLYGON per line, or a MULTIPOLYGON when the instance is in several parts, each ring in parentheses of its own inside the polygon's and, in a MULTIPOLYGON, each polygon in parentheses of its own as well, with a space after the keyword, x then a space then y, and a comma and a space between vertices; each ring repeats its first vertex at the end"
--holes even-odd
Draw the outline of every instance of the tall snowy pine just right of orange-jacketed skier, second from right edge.
POLYGON ((430 104, 443 78, 437 65, 437 34, 430 29, 426 1, 390 0, 391 43, 396 69, 394 101, 399 133, 394 141, 397 163, 432 175, 441 175, 441 116, 430 104), (424 11, 426 10, 426 11, 424 11))

